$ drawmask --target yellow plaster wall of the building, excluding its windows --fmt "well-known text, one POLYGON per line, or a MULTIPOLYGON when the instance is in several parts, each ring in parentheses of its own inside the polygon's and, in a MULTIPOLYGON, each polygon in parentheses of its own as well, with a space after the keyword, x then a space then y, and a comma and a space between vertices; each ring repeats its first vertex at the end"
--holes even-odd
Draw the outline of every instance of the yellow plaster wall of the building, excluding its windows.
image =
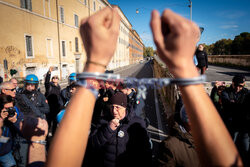
MULTIPOLYGON (((32 0, 32 11, 21 8, 20 0, 0 0, 0 76, 8 75, 9 70, 16 69, 17 77, 25 77, 27 67, 36 67, 34 73, 43 79, 43 75, 50 66, 58 67, 55 74, 66 77, 76 72, 76 59, 79 61, 79 72, 86 61, 86 53, 79 34, 79 27, 75 27, 74 14, 78 15, 78 22, 99 11, 99 7, 110 6, 104 0, 32 0), (94 11, 93 2, 96 10, 94 11), (58 2, 58 4, 56 4, 58 2), (57 6, 58 5, 58 6, 57 6), (90 5, 90 7, 88 6, 90 5), (64 8, 65 22, 60 21, 60 6, 64 8), (58 12, 58 14, 57 14, 58 12), (58 18, 57 18, 58 17, 58 18), (59 22, 57 22, 59 20, 59 22), (33 58, 26 57, 25 35, 32 36, 33 58), (75 37, 78 38, 79 52, 75 52, 75 37), (47 39, 52 41, 48 46, 47 39), (61 41, 66 42, 66 56, 61 55, 61 41), (52 55, 48 57, 48 47, 52 48, 52 55), (60 57, 61 55, 61 57, 60 57), (8 70, 4 70, 4 59, 8 61, 8 70), (60 65, 67 65, 67 69, 60 70, 60 65)), ((131 29, 125 15, 121 13, 127 28, 131 29)), ((119 52, 119 48, 116 52, 119 52)))

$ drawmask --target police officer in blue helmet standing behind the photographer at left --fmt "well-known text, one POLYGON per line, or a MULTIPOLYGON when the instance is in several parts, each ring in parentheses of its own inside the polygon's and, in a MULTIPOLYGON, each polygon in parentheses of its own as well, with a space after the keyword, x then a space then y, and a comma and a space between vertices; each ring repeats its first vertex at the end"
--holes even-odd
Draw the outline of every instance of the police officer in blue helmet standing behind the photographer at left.
POLYGON ((45 114, 49 113, 49 105, 45 96, 37 90, 38 83, 36 75, 27 75, 24 81, 24 91, 16 96, 16 102, 24 115, 34 115, 45 119, 45 114))

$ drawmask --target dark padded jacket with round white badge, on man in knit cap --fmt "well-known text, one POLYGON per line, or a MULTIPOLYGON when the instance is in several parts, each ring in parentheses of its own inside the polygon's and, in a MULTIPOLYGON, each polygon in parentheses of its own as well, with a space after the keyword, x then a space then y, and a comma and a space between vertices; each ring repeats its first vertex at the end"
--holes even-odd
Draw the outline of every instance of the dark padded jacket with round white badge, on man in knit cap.
POLYGON ((112 118, 103 118, 92 127, 85 166, 151 166, 151 149, 145 122, 133 111, 120 121, 116 130, 112 118))

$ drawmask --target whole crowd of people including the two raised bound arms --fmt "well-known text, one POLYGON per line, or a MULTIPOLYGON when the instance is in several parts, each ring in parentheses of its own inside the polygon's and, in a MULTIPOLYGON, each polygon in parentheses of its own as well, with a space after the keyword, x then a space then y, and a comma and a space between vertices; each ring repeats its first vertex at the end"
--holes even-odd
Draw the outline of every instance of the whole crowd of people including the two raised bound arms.
MULTIPOLYGON (((118 11, 108 7, 81 21, 87 53, 83 75, 106 76, 119 25, 118 11)), ((153 11, 150 25, 158 55, 175 78, 197 78, 197 67, 204 74, 206 59, 198 61, 197 67, 193 63, 199 35, 194 23, 165 10, 162 16, 153 11)), ((202 46, 197 55, 204 56, 202 46)), ((136 88, 109 81, 102 86, 99 79, 77 79, 72 73, 68 87, 61 90, 58 76, 51 78, 52 71, 53 67, 46 73, 44 95, 34 74, 25 77, 23 88, 15 78, 1 84, 0 166, 153 165, 149 122, 144 104, 136 99, 136 88), (48 136, 53 136, 52 142, 48 136)), ((242 160, 247 165, 249 91, 244 84, 241 76, 235 76, 223 90, 216 84, 211 94, 215 105, 202 83, 180 85, 182 105, 169 124, 158 165, 242 166, 242 160), (234 141, 239 141, 240 154, 234 141)))

